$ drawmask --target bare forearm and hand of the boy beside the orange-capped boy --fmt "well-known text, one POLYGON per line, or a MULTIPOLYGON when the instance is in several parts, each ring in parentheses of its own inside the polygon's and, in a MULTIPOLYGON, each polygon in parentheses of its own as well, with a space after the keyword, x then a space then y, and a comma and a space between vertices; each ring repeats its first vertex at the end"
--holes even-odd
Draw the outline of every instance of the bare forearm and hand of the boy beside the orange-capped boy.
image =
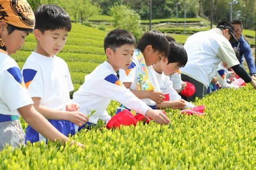
POLYGON ((89 118, 81 112, 57 111, 49 107, 42 106, 40 105, 41 98, 39 97, 32 97, 32 100, 34 101, 34 107, 36 110, 47 119, 67 120, 77 124, 78 126, 85 124, 89 120, 89 118))

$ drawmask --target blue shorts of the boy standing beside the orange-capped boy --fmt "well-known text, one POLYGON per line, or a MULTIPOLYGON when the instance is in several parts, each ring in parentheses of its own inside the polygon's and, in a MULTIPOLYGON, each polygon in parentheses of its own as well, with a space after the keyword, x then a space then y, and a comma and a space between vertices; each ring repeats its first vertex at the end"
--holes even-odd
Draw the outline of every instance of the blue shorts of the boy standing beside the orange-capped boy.
MULTIPOLYGON (((75 126, 70 121, 65 120, 48 120, 59 132, 68 137, 69 134, 74 135, 76 133, 75 126)), ((34 130, 30 125, 26 128, 25 143, 30 141, 31 143, 39 141, 39 133, 34 130)), ((47 141, 46 141, 47 142, 47 141)))

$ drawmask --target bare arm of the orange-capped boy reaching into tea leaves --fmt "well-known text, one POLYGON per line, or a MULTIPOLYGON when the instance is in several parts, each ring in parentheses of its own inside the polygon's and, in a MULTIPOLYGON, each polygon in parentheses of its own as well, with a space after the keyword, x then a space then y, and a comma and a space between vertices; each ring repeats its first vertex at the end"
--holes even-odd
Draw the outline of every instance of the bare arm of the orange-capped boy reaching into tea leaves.
MULTIPOLYGON (((60 140, 63 144, 70 139, 65 135, 61 134, 57 129, 54 128, 41 114, 39 114, 33 105, 27 105, 18 108, 20 115, 24 120, 36 131, 41 133, 44 137, 50 139, 51 141, 60 140)), ((71 143, 74 143, 72 141, 71 143)), ((84 147, 81 143, 76 142, 77 146, 84 147)))

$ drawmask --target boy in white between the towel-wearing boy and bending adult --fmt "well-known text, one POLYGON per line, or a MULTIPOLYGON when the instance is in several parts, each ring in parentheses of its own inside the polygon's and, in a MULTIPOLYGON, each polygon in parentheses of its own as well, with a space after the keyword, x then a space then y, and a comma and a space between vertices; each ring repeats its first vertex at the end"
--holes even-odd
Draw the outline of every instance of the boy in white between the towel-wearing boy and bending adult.
POLYGON ((157 104, 157 108, 183 109, 195 107, 195 105, 181 99, 178 92, 173 89, 173 83, 169 77, 169 75, 177 73, 180 67, 185 66, 187 61, 188 56, 185 48, 181 44, 171 41, 169 55, 153 65, 161 92, 167 98, 161 104, 157 104))

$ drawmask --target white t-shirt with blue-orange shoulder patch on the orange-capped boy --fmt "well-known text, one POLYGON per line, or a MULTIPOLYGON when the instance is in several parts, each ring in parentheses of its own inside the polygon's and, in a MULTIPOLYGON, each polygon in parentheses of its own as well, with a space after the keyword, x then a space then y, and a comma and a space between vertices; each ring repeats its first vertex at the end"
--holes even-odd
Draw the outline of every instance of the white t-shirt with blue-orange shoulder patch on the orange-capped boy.
POLYGON ((18 108, 33 104, 20 68, 8 55, 0 53, 0 114, 19 116, 18 108))

